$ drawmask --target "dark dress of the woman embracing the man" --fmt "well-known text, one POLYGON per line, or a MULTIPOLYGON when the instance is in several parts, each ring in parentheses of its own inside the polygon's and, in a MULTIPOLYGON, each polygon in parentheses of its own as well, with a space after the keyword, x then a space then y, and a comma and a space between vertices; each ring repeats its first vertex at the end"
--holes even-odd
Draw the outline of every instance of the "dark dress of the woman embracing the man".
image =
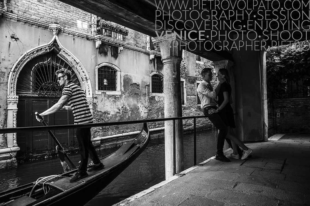
MULTIPOLYGON (((228 99, 229 99, 231 92, 232 92, 232 88, 227 82, 224 82, 221 85, 221 88, 219 90, 219 94, 218 94, 218 101, 219 101, 218 105, 219 106, 221 106, 221 104, 224 102, 224 94, 223 94, 224 91, 228 92, 228 99)), ((219 116, 221 116, 226 126, 236 128, 235 117, 233 115, 233 109, 230 106, 229 102, 225 105, 223 109, 221 109, 221 111, 219 112, 219 116)))

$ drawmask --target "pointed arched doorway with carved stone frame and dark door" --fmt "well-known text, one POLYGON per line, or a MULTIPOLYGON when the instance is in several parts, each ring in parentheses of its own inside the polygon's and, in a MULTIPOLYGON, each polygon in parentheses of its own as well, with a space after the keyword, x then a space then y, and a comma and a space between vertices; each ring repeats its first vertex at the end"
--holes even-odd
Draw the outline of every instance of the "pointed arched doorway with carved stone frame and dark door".
MULTIPOLYGON (((55 72, 52 71, 53 69, 55 70, 56 67, 58 69, 58 66, 72 69, 72 73, 75 74, 73 80, 76 79, 75 81, 78 81, 82 89, 85 91, 87 102, 92 111, 92 88, 91 81, 86 69, 78 60, 78 58, 75 57, 68 49, 64 48, 60 43, 57 36, 59 30, 61 30, 60 25, 51 24, 50 28, 51 32, 54 34, 51 41, 47 44, 42 44, 32 48, 22 54, 11 69, 7 85, 8 128, 14 128, 21 125, 41 126, 41 124, 35 120, 34 112, 36 110, 43 111, 47 109, 51 106, 52 101, 55 102, 59 99, 59 97, 57 97, 57 92, 59 95, 61 90, 59 90, 60 88, 57 86, 57 84, 55 84, 53 79, 55 78, 53 76, 55 72), (50 67, 48 67, 48 65, 50 65, 50 67), (21 72, 23 74, 20 74, 21 72), (45 96, 47 94, 48 96, 45 96), (38 107, 38 105, 43 106, 41 108, 38 107), (17 112, 19 112, 18 115, 17 112), (17 122, 19 123, 17 124, 17 122)), ((70 118, 73 117, 71 114, 68 114, 68 112, 66 112, 68 117, 66 120, 63 119, 62 121, 62 119, 57 116, 58 114, 61 115, 61 112, 64 111, 60 111, 55 115, 48 117, 48 120, 46 121, 50 123, 50 125, 53 124, 55 120, 57 120, 57 124, 70 124, 73 122, 72 119, 70 120, 70 118)), ((64 115, 62 115, 62 117, 64 117, 64 115)), ((55 131, 55 135, 57 138, 61 139, 62 137, 60 134, 58 134, 58 132, 61 131, 55 131)), ((47 132, 45 134, 44 135, 47 136, 47 132)), ((8 133, 7 146, 8 148, 11 148, 11 151, 14 152, 19 151, 20 147, 24 147, 23 152, 18 154, 23 157, 21 159, 27 160, 42 158, 43 156, 50 156, 55 153, 54 145, 52 145, 54 143, 51 142, 48 136, 47 139, 40 139, 42 135, 37 135, 39 137, 37 138, 36 135, 33 136, 33 134, 27 134, 27 139, 26 134, 18 135, 19 138, 17 138, 17 133, 8 133), (35 148, 35 150, 33 149, 33 139, 37 141, 39 145, 35 148)), ((63 146, 65 149, 69 149, 71 151, 73 148, 75 148, 74 141, 71 142, 73 138, 70 139, 70 137, 73 136, 73 132, 70 134, 67 131, 66 135, 67 136, 64 138, 68 139, 68 145, 63 146)), ((62 140, 59 141, 62 142, 62 140)))

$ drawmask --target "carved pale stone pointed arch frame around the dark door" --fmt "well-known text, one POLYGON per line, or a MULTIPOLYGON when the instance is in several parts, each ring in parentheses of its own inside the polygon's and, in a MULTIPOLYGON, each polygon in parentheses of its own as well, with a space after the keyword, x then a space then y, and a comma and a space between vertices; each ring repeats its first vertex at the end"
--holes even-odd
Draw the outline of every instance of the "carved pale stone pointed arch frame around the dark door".
MULTIPOLYGON (((16 95, 16 85, 17 79, 20 74, 20 71, 23 69, 24 65, 32 60, 33 58, 51 52, 51 50, 55 49, 58 55, 66 61, 73 71, 77 74, 80 85, 82 89, 85 91, 86 99, 88 104, 90 105, 90 109, 92 111, 92 87, 91 81, 89 79, 88 73, 82 63, 75 57, 69 50, 64 48, 58 39, 58 31, 60 30, 60 26, 57 24, 51 24, 50 28, 54 34, 52 40, 47 44, 42 44, 38 47, 32 48, 29 51, 25 52, 20 56, 20 58, 13 65, 7 85, 7 127, 14 128, 16 127, 16 114, 17 114, 17 103, 18 96, 16 95)), ((17 147, 16 142, 16 133, 7 134, 7 147, 17 147)), ((19 150, 19 148, 17 149, 19 150)))

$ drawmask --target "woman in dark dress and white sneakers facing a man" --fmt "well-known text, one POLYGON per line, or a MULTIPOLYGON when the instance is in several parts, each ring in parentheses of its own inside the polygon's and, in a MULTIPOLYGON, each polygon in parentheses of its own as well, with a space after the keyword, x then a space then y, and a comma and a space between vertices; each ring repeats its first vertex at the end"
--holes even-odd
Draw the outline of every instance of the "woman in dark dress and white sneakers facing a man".
POLYGON ((217 76, 218 80, 221 80, 222 78, 226 78, 226 82, 224 82, 221 85, 221 88, 219 90, 218 94, 218 105, 219 105, 219 115, 221 116, 222 120, 226 124, 228 128, 228 132, 226 135, 226 138, 231 140, 232 143, 232 149, 233 153, 228 155, 228 158, 234 158, 239 159, 240 155, 238 154, 237 145, 239 145, 243 149, 243 154, 241 159, 247 158, 250 153, 252 152, 252 149, 248 148, 246 145, 244 145, 235 135, 233 128, 236 128, 235 125, 235 117, 233 114, 232 107, 230 104, 232 103, 232 97, 231 97, 231 86, 229 84, 230 78, 228 74, 227 69, 219 69, 217 76))

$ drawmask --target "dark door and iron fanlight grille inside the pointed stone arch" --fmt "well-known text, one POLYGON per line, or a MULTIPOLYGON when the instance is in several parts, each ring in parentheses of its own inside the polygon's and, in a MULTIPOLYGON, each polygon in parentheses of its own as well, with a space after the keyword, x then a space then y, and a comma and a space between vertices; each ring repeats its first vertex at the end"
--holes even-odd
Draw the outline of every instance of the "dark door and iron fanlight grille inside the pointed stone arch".
MULTIPOLYGON (((55 71, 65 68, 72 71, 72 80, 80 85, 77 75, 69 64, 57 55, 56 50, 41 54, 28 61, 21 69, 17 78, 16 95, 17 127, 41 126, 35 118, 36 111, 42 112, 56 103, 62 88, 57 83, 55 71)), ((72 111, 58 111, 45 117, 48 125, 73 124, 72 111)), ((69 152, 78 149, 73 129, 52 131, 60 144, 69 152)), ((17 145, 20 150, 16 154, 17 160, 33 160, 55 155, 55 142, 47 131, 17 133, 17 145)))

